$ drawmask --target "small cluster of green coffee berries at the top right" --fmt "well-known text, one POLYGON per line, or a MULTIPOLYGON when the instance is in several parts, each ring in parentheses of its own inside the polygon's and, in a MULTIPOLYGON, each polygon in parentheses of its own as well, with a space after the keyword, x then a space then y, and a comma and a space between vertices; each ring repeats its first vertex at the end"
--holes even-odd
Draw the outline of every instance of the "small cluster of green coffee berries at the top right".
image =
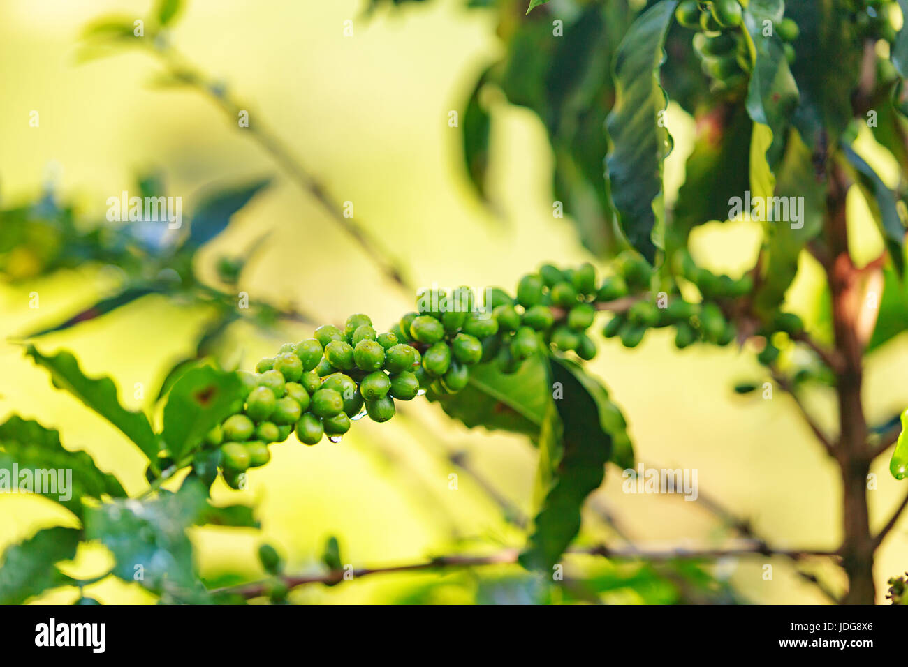
MULTIPOLYGON (((683 0, 675 15, 679 24, 697 31, 694 50, 704 73, 719 88, 735 88, 747 81, 753 65, 737 0, 683 0)), ((797 39, 797 24, 785 18, 775 25, 775 30, 785 42, 785 57, 789 63, 794 62, 795 47, 790 43, 797 39)))

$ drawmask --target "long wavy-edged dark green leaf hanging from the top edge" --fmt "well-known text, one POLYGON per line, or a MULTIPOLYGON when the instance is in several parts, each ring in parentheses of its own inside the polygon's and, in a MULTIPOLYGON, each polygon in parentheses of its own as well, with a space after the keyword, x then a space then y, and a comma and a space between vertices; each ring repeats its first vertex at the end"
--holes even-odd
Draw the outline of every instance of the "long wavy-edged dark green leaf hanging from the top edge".
POLYGON ((617 100, 607 121, 613 142, 607 173, 621 229, 651 263, 656 258, 654 201, 661 201, 662 162, 672 147, 671 136, 661 126, 665 123, 659 122, 666 93, 658 73, 676 5, 675 0, 661 0, 627 31, 615 59, 617 100))

